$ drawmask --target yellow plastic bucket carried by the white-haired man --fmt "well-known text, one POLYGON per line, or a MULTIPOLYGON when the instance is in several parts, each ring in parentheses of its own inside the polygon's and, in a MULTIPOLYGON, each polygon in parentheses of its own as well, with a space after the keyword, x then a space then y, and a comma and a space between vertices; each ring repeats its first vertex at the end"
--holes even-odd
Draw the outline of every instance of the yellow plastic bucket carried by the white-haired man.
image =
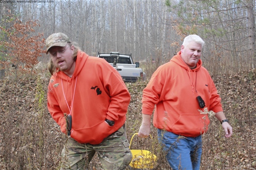
MULTIPOLYGON (((130 141, 130 147, 131 148, 131 144, 132 144, 132 140, 134 138, 135 135, 137 135, 138 133, 135 133, 130 141)), ((151 139, 152 136, 150 135, 151 139)), ((150 151, 147 150, 131 150, 133 158, 131 163, 129 164, 131 167, 134 168, 154 168, 154 166, 156 165, 156 159, 157 156, 154 155, 153 153, 151 153, 150 151)))

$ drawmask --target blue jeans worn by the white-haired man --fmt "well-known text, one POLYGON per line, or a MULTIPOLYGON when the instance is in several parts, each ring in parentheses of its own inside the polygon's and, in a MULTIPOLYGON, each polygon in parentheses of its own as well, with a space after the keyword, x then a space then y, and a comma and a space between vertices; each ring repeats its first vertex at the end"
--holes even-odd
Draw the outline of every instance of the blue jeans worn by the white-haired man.
POLYGON ((199 170, 202 137, 185 137, 158 129, 158 141, 169 165, 175 169, 199 170))

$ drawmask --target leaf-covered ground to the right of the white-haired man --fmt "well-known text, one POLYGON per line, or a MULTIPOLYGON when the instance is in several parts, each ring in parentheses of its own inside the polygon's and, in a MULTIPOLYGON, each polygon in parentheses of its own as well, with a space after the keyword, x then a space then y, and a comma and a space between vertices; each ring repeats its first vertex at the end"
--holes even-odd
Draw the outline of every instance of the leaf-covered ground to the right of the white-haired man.
POLYGON ((211 122, 204 138, 204 150, 208 152, 205 152, 206 157, 202 157, 202 167, 255 169, 256 70, 212 78, 222 98, 224 112, 233 128, 233 136, 224 139, 219 122, 211 122), (211 166, 207 157, 213 157, 211 166))

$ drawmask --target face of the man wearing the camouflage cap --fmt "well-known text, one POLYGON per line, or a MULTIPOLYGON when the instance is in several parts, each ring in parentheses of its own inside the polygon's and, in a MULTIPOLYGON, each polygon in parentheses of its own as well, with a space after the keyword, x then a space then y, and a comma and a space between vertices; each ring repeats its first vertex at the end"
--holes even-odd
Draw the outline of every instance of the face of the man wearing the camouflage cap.
POLYGON ((74 46, 67 44, 66 46, 53 46, 49 50, 53 64, 60 71, 67 73, 74 71, 75 61, 73 59, 74 46))

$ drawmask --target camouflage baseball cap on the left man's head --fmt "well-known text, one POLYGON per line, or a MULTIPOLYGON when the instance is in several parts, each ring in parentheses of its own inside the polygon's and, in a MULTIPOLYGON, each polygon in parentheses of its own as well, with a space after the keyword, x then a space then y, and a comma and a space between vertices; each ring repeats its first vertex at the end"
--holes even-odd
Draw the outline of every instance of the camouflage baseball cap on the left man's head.
POLYGON ((46 54, 52 46, 66 46, 67 42, 70 42, 69 37, 63 33, 54 33, 46 39, 46 54))

